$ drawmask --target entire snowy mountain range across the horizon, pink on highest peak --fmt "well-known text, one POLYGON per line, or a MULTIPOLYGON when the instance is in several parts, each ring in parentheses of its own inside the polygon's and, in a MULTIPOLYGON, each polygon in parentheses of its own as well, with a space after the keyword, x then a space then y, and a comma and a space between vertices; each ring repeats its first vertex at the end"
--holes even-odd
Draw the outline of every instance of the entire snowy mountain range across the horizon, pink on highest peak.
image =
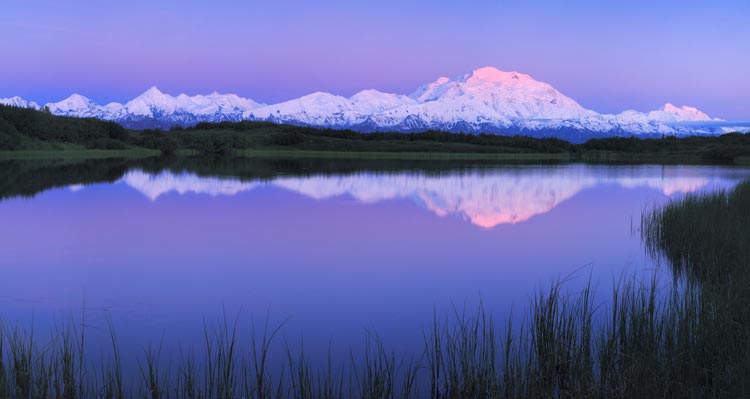
POLYGON ((493 67, 455 78, 441 77, 410 95, 364 90, 347 98, 316 92, 267 105, 216 92, 171 96, 152 87, 124 104, 100 105, 79 94, 43 107, 20 97, 0 98, 0 104, 112 120, 133 129, 256 120, 363 132, 443 130, 553 136, 571 141, 604 136, 750 131, 750 123, 725 122, 697 108, 669 103, 651 112, 600 114, 582 107, 548 83, 493 67))

